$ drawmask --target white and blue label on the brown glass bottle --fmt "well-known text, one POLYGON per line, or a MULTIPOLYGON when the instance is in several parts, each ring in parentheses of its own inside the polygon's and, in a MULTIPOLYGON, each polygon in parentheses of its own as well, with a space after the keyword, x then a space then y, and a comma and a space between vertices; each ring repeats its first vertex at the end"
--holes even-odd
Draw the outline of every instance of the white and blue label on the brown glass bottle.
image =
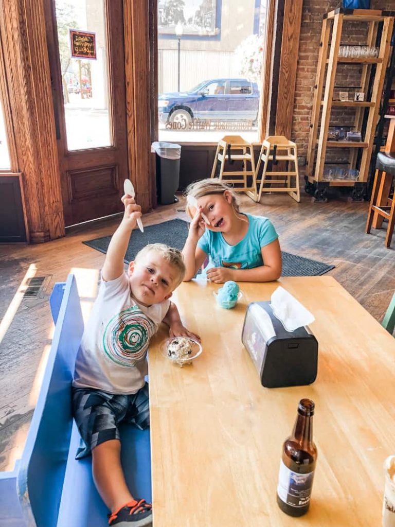
POLYGON ((304 507, 310 501, 313 477, 314 471, 298 474, 292 472, 281 460, 277 487, 279 498, 293 507, 304 507))

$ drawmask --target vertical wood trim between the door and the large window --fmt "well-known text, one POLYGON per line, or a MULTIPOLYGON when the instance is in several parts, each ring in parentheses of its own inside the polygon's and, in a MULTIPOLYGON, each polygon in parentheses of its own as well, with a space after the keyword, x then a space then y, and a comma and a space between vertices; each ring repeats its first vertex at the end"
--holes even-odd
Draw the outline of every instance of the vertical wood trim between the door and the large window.
POLYGON ((143 212, 152 208, 150 9, 149 2, 124 0, 127 148, 130 178, 143 212))

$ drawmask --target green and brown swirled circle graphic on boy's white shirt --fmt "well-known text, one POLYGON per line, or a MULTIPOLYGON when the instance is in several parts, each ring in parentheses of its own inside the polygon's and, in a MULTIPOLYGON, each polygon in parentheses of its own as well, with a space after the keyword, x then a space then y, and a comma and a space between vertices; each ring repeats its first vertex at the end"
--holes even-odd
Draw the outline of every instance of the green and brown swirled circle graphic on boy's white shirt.
POLYGON ((103 335, 104 353, 116 364, 133 368, 147 350, 155 333, 155 324, 139 309, 132 306, 115 315, 103 335))

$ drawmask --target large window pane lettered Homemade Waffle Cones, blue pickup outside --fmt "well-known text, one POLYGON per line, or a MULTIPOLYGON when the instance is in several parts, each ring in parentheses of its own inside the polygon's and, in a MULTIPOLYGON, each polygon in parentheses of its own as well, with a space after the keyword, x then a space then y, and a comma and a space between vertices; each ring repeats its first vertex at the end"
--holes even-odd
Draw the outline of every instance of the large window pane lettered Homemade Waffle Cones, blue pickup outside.
POLYGON ((268 0, 159 0, 159 139, 258 141, 268 0))

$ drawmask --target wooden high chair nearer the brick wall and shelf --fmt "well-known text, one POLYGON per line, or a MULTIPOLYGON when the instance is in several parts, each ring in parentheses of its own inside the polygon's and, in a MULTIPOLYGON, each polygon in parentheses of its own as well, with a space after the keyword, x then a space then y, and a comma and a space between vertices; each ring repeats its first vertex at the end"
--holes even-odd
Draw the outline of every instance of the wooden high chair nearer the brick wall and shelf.
MULTIPOLYGON (((272 167, 273 168, 273 167, 272 167)), ((299 191, 299 170, 298 170, 298 151, 297 145, 292 141, 289 141, 283 135, 270 135, 262 143, 262 148, 258 158, 258 165, 256 165, 255 173, 256 183, 260 183, 258 201, 260 201, 262 192, 287 192, 291 198, 299 203, 300 191, 299 191), (258 180, 258 171, 263 161, 263 172, 262 178, 258 180), (278 161, 287 162, 287 170, 281 170, 275 172, 269 171, 269 161, 272 161, 273 166, 278 161), (295 170, 288 170, 288 164, 293 162, 295 170), (274 179, 271 179, 274 177, 274 179), (292 185, 291 179, 295 178, 295 183, 292 185), (264 187, 265 183, 282 183, 283 187, 264 187)))

